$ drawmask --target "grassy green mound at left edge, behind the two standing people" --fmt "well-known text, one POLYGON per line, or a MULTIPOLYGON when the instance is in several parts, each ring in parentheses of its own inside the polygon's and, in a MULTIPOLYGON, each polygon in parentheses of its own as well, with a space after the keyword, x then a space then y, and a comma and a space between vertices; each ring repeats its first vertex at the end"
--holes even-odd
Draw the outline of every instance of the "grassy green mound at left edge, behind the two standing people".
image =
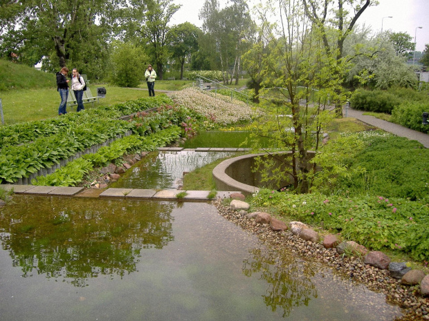
POLYGON ((56 87, 55 75, 0 59, 0 91, 56 87))

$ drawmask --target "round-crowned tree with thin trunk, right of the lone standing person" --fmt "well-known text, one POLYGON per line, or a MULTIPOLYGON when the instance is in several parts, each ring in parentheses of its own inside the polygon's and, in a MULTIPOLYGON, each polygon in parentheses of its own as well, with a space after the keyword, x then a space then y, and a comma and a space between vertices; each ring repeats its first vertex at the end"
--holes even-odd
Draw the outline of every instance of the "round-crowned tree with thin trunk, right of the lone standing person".
POLYGON ((183 79, 183 66, 186 59, 198 50, 198 37, 201 30, 192 23, 185 22, 174 26, 168 33, 172 57, 179 59, 181 64, 180 79, 183 79))

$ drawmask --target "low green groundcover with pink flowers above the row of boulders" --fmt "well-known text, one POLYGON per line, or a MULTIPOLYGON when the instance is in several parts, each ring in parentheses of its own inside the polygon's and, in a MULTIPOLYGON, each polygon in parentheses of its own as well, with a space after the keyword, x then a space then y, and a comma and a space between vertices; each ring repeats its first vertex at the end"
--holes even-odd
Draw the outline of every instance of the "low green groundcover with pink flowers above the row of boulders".
POLYGON ((291 220, 321 225, 372 250, 391 249, 428 260, 428 204, 384 196, 291 195, 263 189, 252 206, 277 209, 291 220))

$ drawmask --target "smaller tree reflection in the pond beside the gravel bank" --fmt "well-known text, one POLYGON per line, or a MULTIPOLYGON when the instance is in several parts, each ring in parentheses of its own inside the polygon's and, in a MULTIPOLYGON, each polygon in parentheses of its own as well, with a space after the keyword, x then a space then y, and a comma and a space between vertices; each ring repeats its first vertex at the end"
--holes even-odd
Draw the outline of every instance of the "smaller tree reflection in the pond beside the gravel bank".
POLYGON ((262 298, 271 311, 280 307, 283 317, 287 317, 293 307, 307 306, 311 298, 317 298, 316 286, 310 279, 315 272, 307 262, 298 262, 288 253, 262 249, 252 249, 250 253, 252 257, 244 261, 243 273, 248 277, 260 273, 260 278, 268 282, 262 298))

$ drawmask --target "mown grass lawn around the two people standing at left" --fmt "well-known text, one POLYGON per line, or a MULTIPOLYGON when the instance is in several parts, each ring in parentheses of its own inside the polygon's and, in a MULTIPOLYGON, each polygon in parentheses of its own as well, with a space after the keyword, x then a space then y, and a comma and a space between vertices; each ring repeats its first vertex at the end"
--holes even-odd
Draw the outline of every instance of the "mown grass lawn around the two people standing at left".
MULTIPOLYGON (((95 108, 101 104, 118 104, 148 96, 147 90, 108 85, 90 86, 93 95, 97 93, 97 87, 106 88, 107 95, 106 98, 100 99, 99 103, 95 103, 95 108)), ((0 92, 0 98, 5 125, 57 117, 58 106, 60 106, 61 101, 56 88, 8 90, 0 92)), ((92 104, 85 104, 84 106, 87 109, 93 108, 92 104)), ((67 111, 75 112, 76 106, 73 106, 73 110, 71 107, 67 107, 67 111)))

